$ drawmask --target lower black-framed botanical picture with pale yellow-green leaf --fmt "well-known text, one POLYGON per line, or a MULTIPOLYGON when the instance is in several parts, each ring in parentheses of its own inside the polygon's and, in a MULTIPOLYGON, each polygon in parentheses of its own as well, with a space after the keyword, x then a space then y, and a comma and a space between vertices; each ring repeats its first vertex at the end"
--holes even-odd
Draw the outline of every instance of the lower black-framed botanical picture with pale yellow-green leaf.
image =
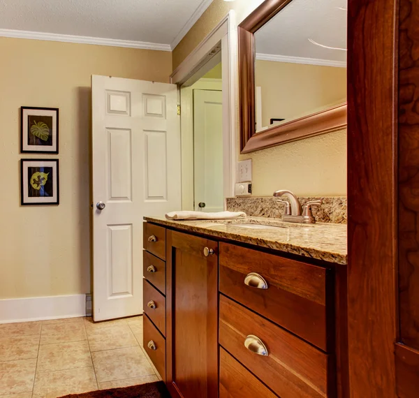
POLYGON ((59 205, 58 159, 20 160, 21 205, 59 205))

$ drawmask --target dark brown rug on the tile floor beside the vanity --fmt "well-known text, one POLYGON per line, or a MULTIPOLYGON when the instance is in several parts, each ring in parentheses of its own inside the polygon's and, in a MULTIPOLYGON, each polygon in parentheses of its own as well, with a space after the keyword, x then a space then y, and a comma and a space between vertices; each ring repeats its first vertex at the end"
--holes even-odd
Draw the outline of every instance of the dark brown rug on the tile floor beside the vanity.
POLYGON ((163 381, 156 381, 155 383, 131 385, 131 387, 66 395, 61 398, 170 398, 170 395, 163 381))

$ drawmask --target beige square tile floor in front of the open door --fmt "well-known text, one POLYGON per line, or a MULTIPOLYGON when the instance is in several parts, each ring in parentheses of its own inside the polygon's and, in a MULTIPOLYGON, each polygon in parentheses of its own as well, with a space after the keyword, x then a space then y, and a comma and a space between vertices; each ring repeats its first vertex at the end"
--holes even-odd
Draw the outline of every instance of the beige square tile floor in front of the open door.
POLYGON ((142 349, 142 316, 0 325, 0 398, 56 398, 159 378, 142 349))

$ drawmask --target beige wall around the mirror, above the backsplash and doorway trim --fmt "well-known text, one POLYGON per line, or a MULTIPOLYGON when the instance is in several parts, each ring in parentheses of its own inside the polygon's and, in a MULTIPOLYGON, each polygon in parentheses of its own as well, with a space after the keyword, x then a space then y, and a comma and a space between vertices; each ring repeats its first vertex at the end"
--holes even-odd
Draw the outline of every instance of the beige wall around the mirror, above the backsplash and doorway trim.
MULTIPOLYGON (((214 0, 173 50, 173 68, 216 27, 228 10, 235 10, 240 23, 262 1, 214 0)), ((346 131, 240 155, 239 159, 253 160, 254 196, 270 196, 276 189, 291 189, 297 195, 346 195, 346 131)))

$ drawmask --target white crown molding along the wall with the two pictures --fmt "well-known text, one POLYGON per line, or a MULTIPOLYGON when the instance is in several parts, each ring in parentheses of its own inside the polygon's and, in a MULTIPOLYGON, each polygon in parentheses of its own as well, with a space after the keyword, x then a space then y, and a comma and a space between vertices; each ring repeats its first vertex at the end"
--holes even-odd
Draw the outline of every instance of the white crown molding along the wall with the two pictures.
POLYGON ((148 43, 135 40, 117 40, 113 38, 98 38, 88 36, 73 36, 67 34, 50 34, 34 31, 19 31, 13 29, 0 29, 1 37, 27 38, 29 40, 61 41, 64 43, 79 43, 93 45, 108 45, 110 47, 139 48, 142 50, 172 51, 170 45, 148 43))

